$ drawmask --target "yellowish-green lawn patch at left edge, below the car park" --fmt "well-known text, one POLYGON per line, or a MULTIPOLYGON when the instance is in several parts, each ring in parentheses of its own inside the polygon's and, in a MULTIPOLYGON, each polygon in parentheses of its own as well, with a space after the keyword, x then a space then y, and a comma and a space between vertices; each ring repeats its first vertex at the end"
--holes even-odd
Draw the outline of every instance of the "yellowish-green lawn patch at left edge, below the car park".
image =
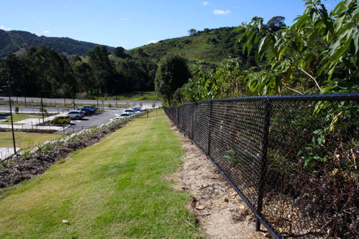
MULTIPOLYGON (((46 140, 54 140, 61 136, 60 134, 51 134, 51 133, 23 133, 23 132, 15 132, 15 140, 20 140, 21 145, 16 145, 17 147, 27 147, 28 144, 33 142, 35 145, 39 145, 40 143, 46 140)), ((0 132, 0 140, 9 140, 11 142, 1 142, 0 147, 12 147, 12 133, 11 132, 0 132)), ((16 142, 17 144, 17 142, 16 142)))

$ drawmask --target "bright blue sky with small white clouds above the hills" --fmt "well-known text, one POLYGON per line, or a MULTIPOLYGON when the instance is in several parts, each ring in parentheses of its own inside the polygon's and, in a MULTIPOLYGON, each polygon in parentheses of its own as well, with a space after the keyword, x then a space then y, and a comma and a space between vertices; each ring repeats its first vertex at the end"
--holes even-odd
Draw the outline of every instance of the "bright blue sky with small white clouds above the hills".
MULTIPOLYGON (((338 0, 322 2, 331 9, 338 0)), ((303 10, 302 0, 0 0, 0 29, 131 49, 253 16, 281 15, 290 25, 303 10)))

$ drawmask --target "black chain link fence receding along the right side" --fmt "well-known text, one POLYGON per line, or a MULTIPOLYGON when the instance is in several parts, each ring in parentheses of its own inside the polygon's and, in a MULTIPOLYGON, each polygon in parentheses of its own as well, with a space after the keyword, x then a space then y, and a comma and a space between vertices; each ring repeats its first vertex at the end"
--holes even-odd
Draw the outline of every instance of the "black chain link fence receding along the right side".
POLYGON ((359 238, 359 93, 165 107, 274 238, 359 238), (358 159, 358 160, 357 160, 358 159))

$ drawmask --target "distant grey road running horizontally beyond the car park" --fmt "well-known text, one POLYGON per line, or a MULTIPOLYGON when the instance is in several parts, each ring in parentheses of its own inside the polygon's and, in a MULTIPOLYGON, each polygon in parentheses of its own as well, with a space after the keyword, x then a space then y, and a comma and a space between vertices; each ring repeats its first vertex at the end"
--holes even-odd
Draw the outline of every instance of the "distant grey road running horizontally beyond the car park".
MULTIPOLYGON (((5 101, 8 98, 6 97, 1 97, 0 98, 0 102, 1 101, 5 101)), ((25 98, 23 97, 11 97, 12 101, 18 101, 18 102, 24 102, 25 98)), ((40 98, 35 98, 35 97, 26 97, 26 102, 40 102, 40 98)), ((51 103, 51 104, 63 104, 64 103, 64 99, 50 99, 50 98, 42 98, 43 102, 47 102, 47 103, 51 103)), ((102 107, 102 102, 99 100, 99 107, 102 107)), ((66 103, 67 104, 71 104, 72 103, 72 99, 66 99, 66 103)), ((97 105, 97 100, 80 100, 80 99, 75 99, 75 103, 76 104, 82 104, 82 105, 97 105)), ((104 105, 106 106, 107 104, 112 104, 113 106, 116 106, 116 100, 110 100, 110 101, 104 101, 104 105)), ((155 103, 156 107, 161 107, 162 106, 162 102, 161 101, 117 101, 118 105, 139 105, 140 103, 142 103, 143 107, 146 108, 152 108, 152 104, 155 103)))

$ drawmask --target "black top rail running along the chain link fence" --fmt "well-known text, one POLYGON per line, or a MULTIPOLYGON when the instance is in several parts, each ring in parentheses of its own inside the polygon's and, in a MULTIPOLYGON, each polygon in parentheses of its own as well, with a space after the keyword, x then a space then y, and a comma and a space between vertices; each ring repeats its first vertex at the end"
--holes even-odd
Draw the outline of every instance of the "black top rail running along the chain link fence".
MULTIPOLYGON (((329 93, 329 94, 309 94, 309 95, 286 95, 286 96, 246 96, 238 98, 223 98, 197 101, 194 103, 205 103, 209 101, 359 101, 359 92, 350 93, 329 93)), ((184 105, 192 104, 185 103, 184 105)))

